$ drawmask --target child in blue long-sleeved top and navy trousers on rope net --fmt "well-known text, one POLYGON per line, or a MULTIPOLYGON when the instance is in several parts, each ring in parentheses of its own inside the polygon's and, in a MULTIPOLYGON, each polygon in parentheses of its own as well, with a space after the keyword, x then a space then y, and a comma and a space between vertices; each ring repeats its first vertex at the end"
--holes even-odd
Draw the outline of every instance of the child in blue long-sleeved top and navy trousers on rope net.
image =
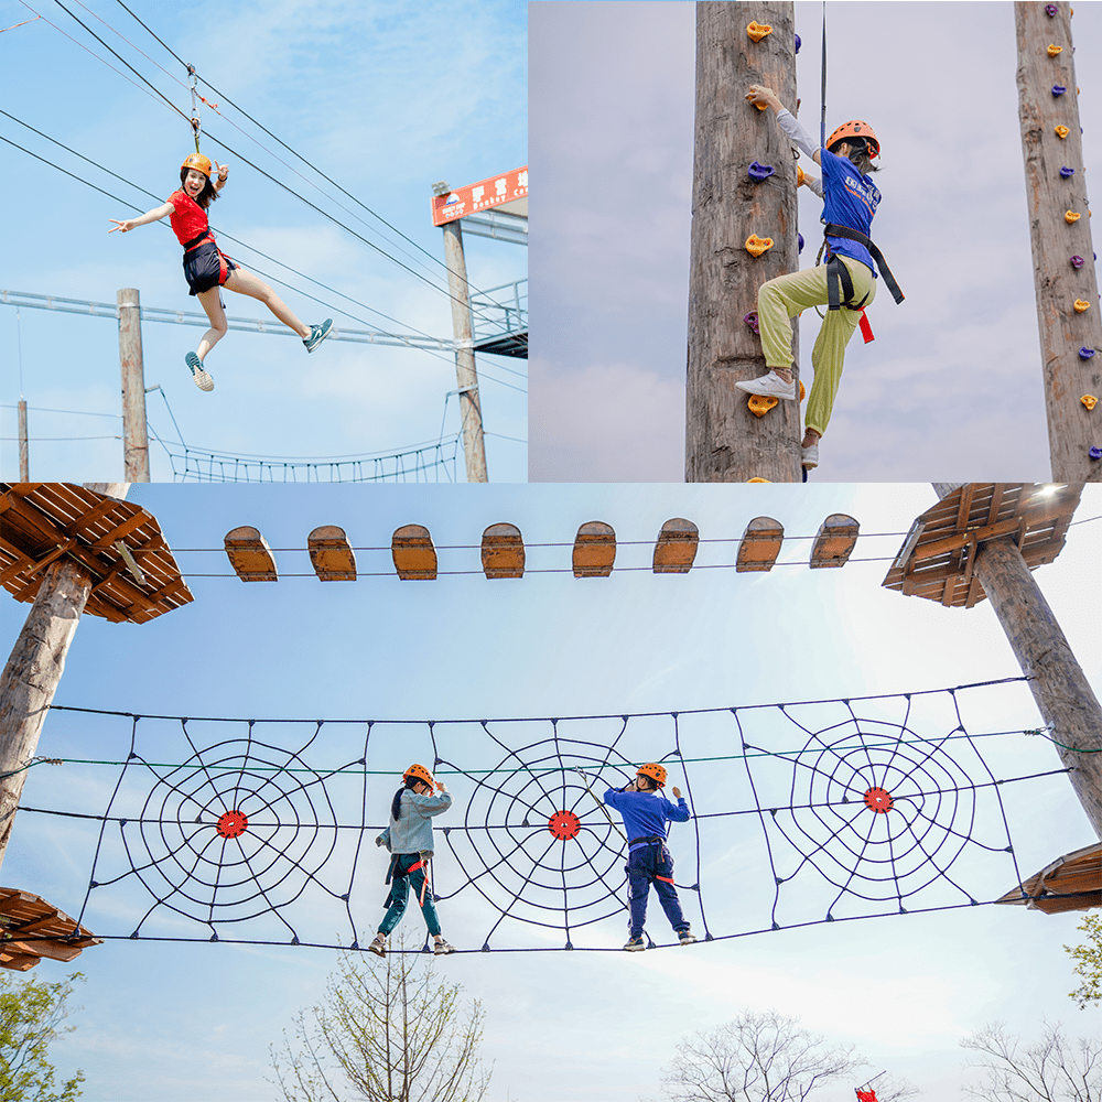
POLYGON ((615 808, 624 819, 627 831, 627 878, 631 903, 630 934, 624 947, 629 953, 647 948, 642 927, 647 919, 647 896, 655 885, 658 900, 673 927, 678 940, 691 946, 695 938, 681 914, 677 888, 673 886, 673 857, 666 849, 666 823, 688 822, 689 806, 681 789, 673 788, 674 807, 658 789, 666 787, 666 768, 657 761, 639 766, 636 778, 624 788, 609 788, 605 803, 615 808))

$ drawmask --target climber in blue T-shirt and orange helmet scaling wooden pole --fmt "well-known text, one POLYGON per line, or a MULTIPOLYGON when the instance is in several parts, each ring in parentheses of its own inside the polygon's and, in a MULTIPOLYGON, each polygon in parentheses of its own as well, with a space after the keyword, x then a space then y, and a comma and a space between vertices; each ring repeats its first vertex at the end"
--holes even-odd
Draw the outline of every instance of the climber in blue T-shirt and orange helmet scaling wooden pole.
POLYGON ((879 155, 880 143, 867 122, 853 119, 840 126, 822 149, 811 141, 771 88, 753 84, 746 99, 771 107, 781 130, 823 170, 821 181, 807 176, 803 182, 823 199, 827 263, 761 284, 758 328, 769 371, 759 379, 735 383, 752 395, 795 400, 790 320, 808 306, 828 307, 811 352, 815 378, 808 398, 802 456, 803 467, 809 469, 819 465, 819 441, 834 408, 845 346, 858 324, 865 343, 873 338, 865 307, 876 298, 874 258, 895 301, 904 299, 879 249, 868 238, 880 202, 880 193, 869 177, 869 173, 878 171, 873 159, 879 155))

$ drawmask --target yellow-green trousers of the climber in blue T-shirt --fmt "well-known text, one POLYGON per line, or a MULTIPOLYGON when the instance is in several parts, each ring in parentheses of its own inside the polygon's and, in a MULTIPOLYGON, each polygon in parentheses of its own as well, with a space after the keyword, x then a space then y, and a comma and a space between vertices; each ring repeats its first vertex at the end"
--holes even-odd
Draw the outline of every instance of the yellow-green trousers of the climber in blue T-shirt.
MULTIPOLYGON (((876 298, 872 269, 860 260, 843 257, 842 263, 853 279, 854 301, 867 306, 876 298)), ((789 370, 792 366, 792 327, 790 320, 808 306, 827 305, 827 266, 808 268, 791 276, 778 276, 758 289, 758 329, 766 366, 789 370)), ((808 396, 804 424, 823 435, 834 409, 834 396, 842 381, 845 346, 861 322, 860 310, 828 310, 819 338, 811 350, 815 380, 808 396)))

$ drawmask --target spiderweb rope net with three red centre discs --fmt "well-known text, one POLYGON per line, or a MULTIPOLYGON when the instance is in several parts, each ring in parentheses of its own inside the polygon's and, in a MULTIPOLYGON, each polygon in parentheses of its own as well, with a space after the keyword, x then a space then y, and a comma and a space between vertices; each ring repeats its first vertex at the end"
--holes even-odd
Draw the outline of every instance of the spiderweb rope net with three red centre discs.
MULTIPOLYGON (((402 770, 431 763, 453 796, 433 820, 431 877, 450 940, 618 949, 627 846, 602 797, 660 760, 666 791, 681 788, 692 811, 669 836, 685 917, 702 940, 744 937, 972 907, 1020 884, 1004 792, 1066 770, 996 778, 981 742, 1002 736, 984 748, 1013 771, 1023 730, 970 733, 961 701, 1006 683, 543 720, 55 706, 55 734, 72 727, 87 746, 93 724, 118 759, 66 758, 75 770, 51 771, 65 778, 54 806, 23 810, 57 817, 58 850, 87 861, 78 921, 100 937, 359 948, 386 896, 375 838, 402 770)), ((653 937, 671 943, 651 911, 653 937)), ((415 908, 404 921, 420 922, 415 908)))

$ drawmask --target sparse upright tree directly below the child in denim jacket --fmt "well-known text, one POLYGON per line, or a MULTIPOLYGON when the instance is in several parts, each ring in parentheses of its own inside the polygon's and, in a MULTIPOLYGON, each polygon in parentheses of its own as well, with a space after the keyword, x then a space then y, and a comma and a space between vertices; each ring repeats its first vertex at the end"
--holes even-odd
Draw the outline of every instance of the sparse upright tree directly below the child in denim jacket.
POLYGON ((480 1102, 483 1011, 462 990, 424 953, 343 953, 321 1005, 272 1049, 272 1082, 285 1102, 480 1102))

